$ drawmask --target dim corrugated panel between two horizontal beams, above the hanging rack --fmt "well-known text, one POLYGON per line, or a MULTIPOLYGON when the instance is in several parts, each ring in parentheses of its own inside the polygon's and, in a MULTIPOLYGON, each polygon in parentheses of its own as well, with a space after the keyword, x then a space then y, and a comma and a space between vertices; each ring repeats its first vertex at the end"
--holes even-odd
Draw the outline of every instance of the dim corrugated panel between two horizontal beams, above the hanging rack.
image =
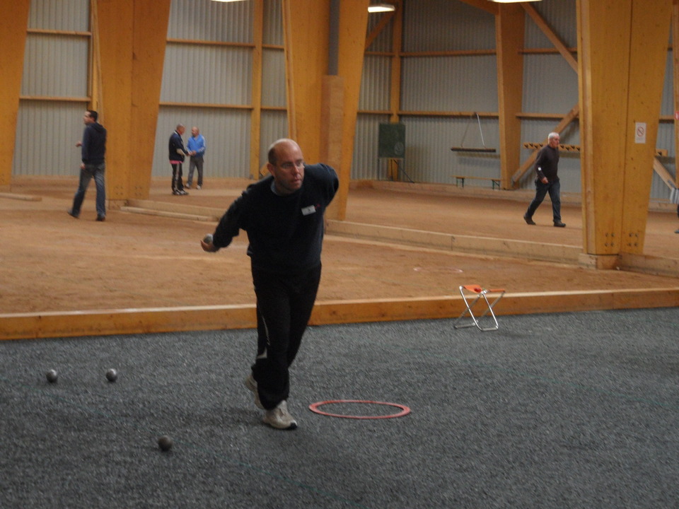
POLYGON ((404 59, 402 110, 497 111, 495 60, 494 55, 404 59))

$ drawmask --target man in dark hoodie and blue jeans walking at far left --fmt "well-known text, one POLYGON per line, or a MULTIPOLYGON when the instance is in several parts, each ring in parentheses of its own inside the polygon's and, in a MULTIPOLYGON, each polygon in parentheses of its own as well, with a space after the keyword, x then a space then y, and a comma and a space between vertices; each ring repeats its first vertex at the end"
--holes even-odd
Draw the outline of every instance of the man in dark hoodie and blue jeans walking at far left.
POLYGON ((80 216, 80 209, 85 199, 90 180, 94 177, 97 187, 97 221, 106 219, 106 188, 104 182, 105 154, 106 154, 106 129, 97 122, 99 115, 94 110, 87 110, 83 115, 83 139, 76 143, 81 147, 82 163, 80 165, 80 184, 73 198, 73 207, 69 214, 74 218, 80 216))

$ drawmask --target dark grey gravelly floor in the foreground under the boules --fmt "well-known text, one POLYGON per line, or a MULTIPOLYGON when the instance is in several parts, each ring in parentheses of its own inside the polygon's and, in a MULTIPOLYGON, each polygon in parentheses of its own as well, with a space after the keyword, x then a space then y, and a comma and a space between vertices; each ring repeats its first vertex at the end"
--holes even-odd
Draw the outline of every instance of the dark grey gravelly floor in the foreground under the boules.
POLYGON ((679 310, 499 322, 308 329, 296 431, 243 387, 253 330, 1 342, 0 507, 678 507, 679 310))

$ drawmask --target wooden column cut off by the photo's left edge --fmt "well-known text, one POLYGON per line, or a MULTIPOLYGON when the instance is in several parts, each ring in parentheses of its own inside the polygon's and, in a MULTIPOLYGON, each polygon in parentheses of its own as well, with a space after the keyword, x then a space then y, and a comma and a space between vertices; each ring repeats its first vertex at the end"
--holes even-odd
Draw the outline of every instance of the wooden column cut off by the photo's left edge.
POLYGON ((2 47, 2 52, 0 52, 0 76, 2 76, 0 125, 9 132, 8 138, 5 139, 5 143, 8 144, 8 153, 5 153, 0 163, 0 190, 9 189, 12 178, 29 7, 30 2, 27 0, 0 0, 0 11, 4 13, 0 21, 0 47, 2 47))

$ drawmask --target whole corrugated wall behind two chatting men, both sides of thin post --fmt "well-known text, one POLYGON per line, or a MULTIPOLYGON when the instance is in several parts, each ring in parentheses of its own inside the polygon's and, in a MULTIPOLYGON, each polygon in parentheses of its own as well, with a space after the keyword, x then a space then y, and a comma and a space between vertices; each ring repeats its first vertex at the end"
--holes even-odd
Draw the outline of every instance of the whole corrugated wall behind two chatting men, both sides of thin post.
MULTIPOLYGON (((253 2, 173 0, 153 175, 168 176, 168 138, 176 124, 205 136, 205 178, 250 175, 250 106, 253 105, 253 2), (195 44, 193 41, 240 43, 195 44), (163 105, 183 103, 183 105, 163 105), (245 108, 238 108, 239 106, 245 108)), ((260 163, 269 144, 287 134, 285 59, 280 0, 264 2, 260 163), (268 108, 268 109, 267 109, 268 108)), ((187 167, 188 165, 185 164, 187 167)), ((187 169, 185 169, 185 172, 187 169)))

